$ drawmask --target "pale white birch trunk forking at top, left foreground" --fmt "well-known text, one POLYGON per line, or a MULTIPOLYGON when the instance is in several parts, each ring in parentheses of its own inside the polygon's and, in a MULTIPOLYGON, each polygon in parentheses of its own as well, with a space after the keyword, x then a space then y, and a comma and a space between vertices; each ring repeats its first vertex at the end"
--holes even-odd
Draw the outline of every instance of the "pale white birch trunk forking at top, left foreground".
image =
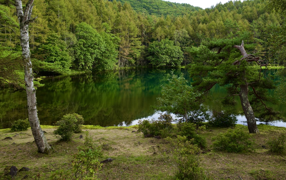
POLYGON ((49 153, 51 147, 47 143, 45 135, 40 127, 40 121, 37 114, 36 90, 34 88, 34 75, 29 48, 29 23, 31 21, 33 1, 34 0, 29 0, 27 2, 24 12, 21 0, 15 0, 15 6, 20 23, 20 41, 22 47, 22 57, 24 59, 25 87, 27 93, 29 122, 35 143, 38 147, 38 152, 49 153))

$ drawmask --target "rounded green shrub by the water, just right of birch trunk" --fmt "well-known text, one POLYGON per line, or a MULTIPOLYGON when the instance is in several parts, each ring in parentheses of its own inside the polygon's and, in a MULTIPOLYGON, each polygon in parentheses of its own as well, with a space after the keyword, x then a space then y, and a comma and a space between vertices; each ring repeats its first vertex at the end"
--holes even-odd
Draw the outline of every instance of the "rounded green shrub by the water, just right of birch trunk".
POLYGON ((81 125, 84 123, 84 118, 77 113, 66 114, 56 125, 59 127, 54 131, 56 137, 62 141, 70 141, 74 133, 81 132, 81 125))

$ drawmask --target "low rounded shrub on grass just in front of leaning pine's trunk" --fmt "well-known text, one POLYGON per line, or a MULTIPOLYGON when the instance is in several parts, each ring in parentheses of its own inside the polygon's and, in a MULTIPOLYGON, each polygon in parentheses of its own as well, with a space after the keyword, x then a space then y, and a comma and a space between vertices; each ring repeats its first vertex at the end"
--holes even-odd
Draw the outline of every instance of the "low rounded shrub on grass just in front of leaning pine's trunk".
POLYGON ((229 129, 226 133, 212 137, 214 150, 241 152, 253 150, 254 141, 251 135, 241 129, 229 129))

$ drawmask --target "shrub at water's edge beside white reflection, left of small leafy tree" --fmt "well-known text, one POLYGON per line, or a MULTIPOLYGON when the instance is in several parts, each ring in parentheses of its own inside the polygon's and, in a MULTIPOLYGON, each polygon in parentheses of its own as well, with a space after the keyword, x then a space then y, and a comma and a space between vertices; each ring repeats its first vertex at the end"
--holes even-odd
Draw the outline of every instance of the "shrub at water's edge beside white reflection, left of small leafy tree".
POLYGON ((144 135, 150 134, 152 136, 157 136, 166 134, 166 131, 172 129, 172 116, 170 114, 161 114, 158 120, 152 119, 148 121, 147 119, 138 122, 138 131, 141 131, 144 135))

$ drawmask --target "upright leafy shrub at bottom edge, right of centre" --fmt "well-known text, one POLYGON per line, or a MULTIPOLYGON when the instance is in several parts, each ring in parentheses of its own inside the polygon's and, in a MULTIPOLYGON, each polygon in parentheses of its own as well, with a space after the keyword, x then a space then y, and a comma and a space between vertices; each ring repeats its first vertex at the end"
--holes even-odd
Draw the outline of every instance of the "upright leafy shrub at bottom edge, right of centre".
POLYGON ((174 157, 176 158, 176 179, 206 179, 200 167, 198 152, 200 149, 193 145, 185 136, 178 136, 175 144, 174 157))

